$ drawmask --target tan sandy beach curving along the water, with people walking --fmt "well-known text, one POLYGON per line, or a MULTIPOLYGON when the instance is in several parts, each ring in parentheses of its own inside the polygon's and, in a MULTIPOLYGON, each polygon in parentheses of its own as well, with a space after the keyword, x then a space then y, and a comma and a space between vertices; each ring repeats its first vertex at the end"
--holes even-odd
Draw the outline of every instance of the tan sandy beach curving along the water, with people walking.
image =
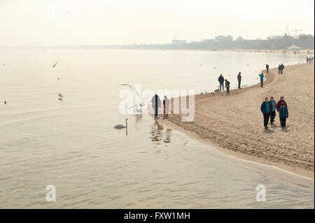
MULTIPOLYGON (((237 82, 237 74, 231 81, 237 82)), ((263 88, 196 95, 194 122, 181 122, 180 115, 163 122, 226 154, 314 178, 314 64, 287 66, 282 75, 271 69, 263 88), (276 113, 275 124, 265 130, 260 105, 265 96, 279 101, 282 95, 288 103, 287 129, 281 129, 276 113)))

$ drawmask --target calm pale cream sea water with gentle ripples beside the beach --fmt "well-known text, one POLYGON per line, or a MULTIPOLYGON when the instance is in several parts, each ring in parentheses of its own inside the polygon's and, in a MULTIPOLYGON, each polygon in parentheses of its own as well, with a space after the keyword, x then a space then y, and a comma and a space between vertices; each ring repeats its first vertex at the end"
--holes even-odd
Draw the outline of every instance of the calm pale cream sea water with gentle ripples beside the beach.
POLYGON ((0 50, 0 208, 314 208, 314 188, 290 175, 225 157, 151 115, 118 112, 121 83, 210 92, 220 73, 236 87, 241 71, 252 85, 280 62, 304 55, 0 50), (113 129, 126 117, 127 136, 113 129), (57 201, 45 201, 46 185, 57 201), (267 201, 255 201, 257 185, 267 201))

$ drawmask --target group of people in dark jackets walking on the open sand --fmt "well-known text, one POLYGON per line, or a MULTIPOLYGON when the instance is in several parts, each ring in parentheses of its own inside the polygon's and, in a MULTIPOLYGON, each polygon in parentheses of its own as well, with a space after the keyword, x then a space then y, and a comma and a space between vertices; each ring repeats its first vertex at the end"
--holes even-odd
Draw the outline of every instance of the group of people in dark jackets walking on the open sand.
POLYGON ((265 101, 262 102, 260 110, 264 117, 264 127, 268 129, 268 123, 270 119, 270 124, 274 123, 274 118, 276 117, 276 111, 279 112, 279 120, 282 129, 286 129, 286 119, 288 118, 288 105, 284 101, 284 96, 280 97, 278 102, 274 101, 274 96, 265 97, 265 101))

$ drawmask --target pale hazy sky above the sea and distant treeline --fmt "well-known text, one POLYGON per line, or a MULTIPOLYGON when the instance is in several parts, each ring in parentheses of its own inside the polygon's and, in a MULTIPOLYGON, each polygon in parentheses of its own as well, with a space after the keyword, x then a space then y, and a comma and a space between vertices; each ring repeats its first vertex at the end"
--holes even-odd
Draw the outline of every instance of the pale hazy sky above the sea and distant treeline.
POLYGON ((314 35, 314 0, 0 0, 6 46, 266 38, 286 25, 314 35))

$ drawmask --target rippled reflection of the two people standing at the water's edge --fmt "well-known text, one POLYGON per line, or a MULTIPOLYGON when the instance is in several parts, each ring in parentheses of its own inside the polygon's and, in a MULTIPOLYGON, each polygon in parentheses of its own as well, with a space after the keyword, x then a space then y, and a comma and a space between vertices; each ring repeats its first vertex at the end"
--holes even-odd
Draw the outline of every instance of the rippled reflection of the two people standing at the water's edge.
POLYGON ((171 142, 171 133, 172 129, 166 129, 160 124, 157 120, 154 121, 154 124, 151 126, 151 141, 155 142, 156 145, 160 145, 161 141, 163 143, 171 142))

